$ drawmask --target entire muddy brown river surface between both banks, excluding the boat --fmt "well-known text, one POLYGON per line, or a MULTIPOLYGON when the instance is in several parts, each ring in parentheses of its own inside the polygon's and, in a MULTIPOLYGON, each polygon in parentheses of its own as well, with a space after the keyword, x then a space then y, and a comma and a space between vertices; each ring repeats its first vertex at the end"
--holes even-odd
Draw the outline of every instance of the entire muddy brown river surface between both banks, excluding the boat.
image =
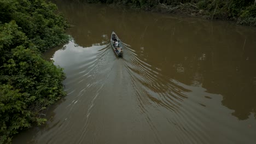
POLYGON ((45 57, 64 69, 67 96, 13 143, 256 143, 255 27, 57 5, 73 40, 45 57))

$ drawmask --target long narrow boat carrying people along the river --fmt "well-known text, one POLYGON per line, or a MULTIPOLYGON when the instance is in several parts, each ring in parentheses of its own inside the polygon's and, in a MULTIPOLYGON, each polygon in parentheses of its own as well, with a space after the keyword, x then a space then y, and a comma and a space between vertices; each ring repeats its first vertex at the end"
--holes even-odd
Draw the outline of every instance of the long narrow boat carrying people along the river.
POLYGON ((112 46, 115 54, 118 57, 122 57, 123 56, 123 47, 122 47, 122 44, 121 44, 121 40, 118 38, 118 36, 117 36, 117 34, 115 34, 115 32, 112 32, 110 41, 111 41, 111 46, 112 46), (115 44, 116 41, 118 43, 117 46, 115 44))

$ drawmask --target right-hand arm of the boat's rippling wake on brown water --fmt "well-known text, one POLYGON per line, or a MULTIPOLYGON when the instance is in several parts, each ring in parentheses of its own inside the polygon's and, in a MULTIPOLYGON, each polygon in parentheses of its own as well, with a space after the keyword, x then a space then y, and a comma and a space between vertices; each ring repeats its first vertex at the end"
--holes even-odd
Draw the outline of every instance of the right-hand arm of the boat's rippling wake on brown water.
MULTIPOLYGON (((201 121, 198 120, 202 117, 200 113, 194 112, 199 109, 199 105, 192 105, 188 99, 193 93, 193 87, 163 75, 161 69, 147 62, 143 53, 133 50, 129 44, 124 43, 124 46, 124 67, 136 93, 137 107, 144 121, 148 123, 155 142, 168 143, 162 137, 165 135, 162 132, 165 127, 169 127, 168 133, 173 134, 173 141, 177 143, 209 142, 210 137, 200 130, 201 121), (163 119, 166 119, 169 125, 161 125, 163 119), (190 141, 184 137, 190 137, 190 141)), ((201 91, 204 92, 205 89, 201 91)), ((209 95, 206 92, 203 94, 209 95)))

